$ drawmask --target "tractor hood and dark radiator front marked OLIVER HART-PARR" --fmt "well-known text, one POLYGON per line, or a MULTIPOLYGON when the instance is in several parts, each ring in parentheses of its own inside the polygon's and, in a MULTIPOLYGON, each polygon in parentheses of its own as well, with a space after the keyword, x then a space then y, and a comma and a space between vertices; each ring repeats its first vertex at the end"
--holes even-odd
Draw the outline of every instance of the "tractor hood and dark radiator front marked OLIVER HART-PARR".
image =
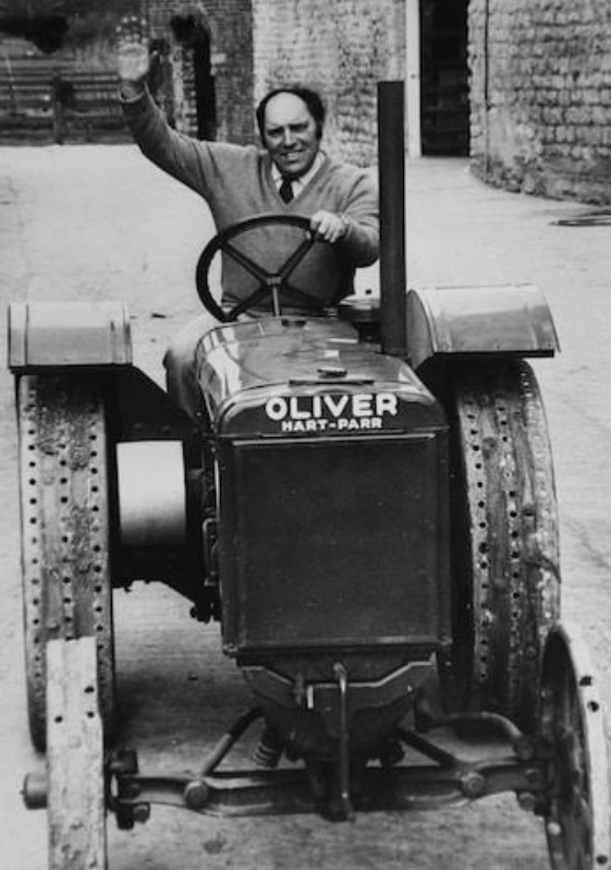
POLYGON ((448 642, 448 427, 413 371, 326 319, 223 326, 201 359, 225 652, 448 642))

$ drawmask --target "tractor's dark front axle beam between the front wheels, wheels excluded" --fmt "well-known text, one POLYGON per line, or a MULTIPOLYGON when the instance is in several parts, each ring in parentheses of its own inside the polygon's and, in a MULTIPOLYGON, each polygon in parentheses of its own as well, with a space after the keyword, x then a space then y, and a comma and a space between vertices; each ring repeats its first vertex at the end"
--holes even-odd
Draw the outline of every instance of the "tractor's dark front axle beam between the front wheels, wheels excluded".
MULTIPOLYGON (((467 717, 473 725, 474 717, 467 717)), ((484 722, 484 720, 480 720, 484 722)), ((526 740, 515 749, 531 756, 505 756, 465 761, 414 732, 402 732, 405 747, 433 764, 367 766, 346 776, 342 763, 327 763, 315 777, 310 770, 217 771, 198 777, 147 776, 137 772, 132 751, 113 756, 107 765, 108 806, 120 826, 146 821, 150 806, 182 807, 222 817, 280 815, 318 812, 332 821, 347 821, 358 812, 429 810, 460 806, 513 792, 524 809, 542 811, 550 787, 549 747, 526 740), (322 777, 320 777, 322 773, 322 777), (346 778, 350 778, 347 786, 346 778), (325 793, 317 798, 323 783, 325 793)), ((227 746, 223 741, 221 741, 227 746)), ((229 751, 228 747, 228 751, 229 751)), ((219 762, 222 757, 219 759, 219 762)), ((208 765, 204 765, 207 769, 208 765)))

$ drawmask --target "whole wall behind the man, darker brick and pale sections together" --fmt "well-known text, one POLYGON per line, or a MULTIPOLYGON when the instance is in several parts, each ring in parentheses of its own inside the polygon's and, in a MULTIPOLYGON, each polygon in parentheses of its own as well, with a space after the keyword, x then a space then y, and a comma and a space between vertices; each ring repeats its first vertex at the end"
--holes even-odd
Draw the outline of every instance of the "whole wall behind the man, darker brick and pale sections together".
POLYGON ((140 0, 151 38, 171 43, 172 114, 194 133, 193 52, 171 39, 178 11, 195 10, 211 37, 217 138, 253 142, 254 105, 288 83, 319 90, 325 147, 361 166, 376 161, 376 85, 403 77, 405 0, 140 0))

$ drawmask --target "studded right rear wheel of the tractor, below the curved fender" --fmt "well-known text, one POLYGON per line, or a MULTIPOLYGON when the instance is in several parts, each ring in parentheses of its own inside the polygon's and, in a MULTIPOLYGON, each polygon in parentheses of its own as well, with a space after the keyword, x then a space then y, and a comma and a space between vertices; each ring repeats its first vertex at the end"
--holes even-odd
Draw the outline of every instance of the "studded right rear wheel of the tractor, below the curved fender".
POLYGON ((453 647, 457 706, 531 730, 547 633, 559 618, 557 504, 545 411, 522 362, 459 367, 452 426, 453 647))

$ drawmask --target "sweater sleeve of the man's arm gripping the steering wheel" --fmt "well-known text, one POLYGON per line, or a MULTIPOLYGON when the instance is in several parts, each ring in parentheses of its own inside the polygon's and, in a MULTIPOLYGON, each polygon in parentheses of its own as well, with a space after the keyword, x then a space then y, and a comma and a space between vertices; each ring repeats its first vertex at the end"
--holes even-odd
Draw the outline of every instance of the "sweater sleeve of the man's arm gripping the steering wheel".
POLYGON ((343 216, 347 231, 340 245, 353 266, 370 266, 380 254, 380 219, 376 177, 358 172, 351 186, 343 216))

